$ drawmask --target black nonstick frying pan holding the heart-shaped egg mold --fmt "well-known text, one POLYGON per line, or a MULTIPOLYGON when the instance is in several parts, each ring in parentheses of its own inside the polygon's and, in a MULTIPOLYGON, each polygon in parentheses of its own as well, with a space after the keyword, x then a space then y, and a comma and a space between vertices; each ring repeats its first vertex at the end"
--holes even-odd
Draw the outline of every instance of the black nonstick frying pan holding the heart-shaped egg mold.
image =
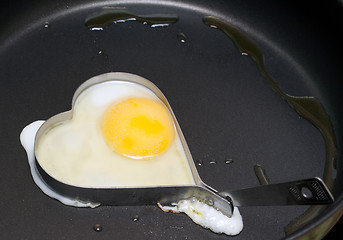
POLYGON ((80 84, 115 71, 143 76, 162 90, 201 178, 215 189, 258 185, 257 164, 275 183, 314 176, 330 182, 335 202, 327 207, 240 208, 244 229, 236 239, 323 237, 343 212, 341 16, 340 2, 7 3, 0 19, 2 238, 227 238, 156 206, 67 207, 34 184, 19 142, 23 127, 69 110, 80 84), (179 18, 167 27, 126 22, 89 30, 86 17, 104 6, 179 18), (283 92, 320 102, 334 144, 273 90, 228 36, 203 23, 209 15, 231 23, 262 49, 266 69, 283 92), (337 151, 330 155, 332 148, 337 151))

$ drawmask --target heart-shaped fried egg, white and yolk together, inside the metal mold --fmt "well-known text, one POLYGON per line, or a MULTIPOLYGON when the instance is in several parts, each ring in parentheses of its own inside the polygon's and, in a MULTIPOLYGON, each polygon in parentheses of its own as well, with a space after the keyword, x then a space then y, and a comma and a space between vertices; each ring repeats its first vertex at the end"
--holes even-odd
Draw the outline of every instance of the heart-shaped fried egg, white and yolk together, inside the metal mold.
POLYGON ((194 184, 171 113, 150 89, 133 82, 84 90, 72 119, 40 137, 36 157, 50 176, 76 186, 194 184))

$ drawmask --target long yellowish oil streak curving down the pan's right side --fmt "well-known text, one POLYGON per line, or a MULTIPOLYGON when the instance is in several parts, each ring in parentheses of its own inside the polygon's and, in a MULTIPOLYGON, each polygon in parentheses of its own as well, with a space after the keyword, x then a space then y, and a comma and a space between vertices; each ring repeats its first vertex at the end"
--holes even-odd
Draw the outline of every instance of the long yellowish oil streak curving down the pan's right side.
MULTIPOLYGON (((247 37, 238 28, 214 16, 206 16, 203 18, 203 21, 206 25, 223 31, 233 41, 242 55, 250 56, 272 89, 279 94, 281 98, 283 98, 289 106, 299 114, 299 116, 308 120, 321 132, 326 144, 326 163, 323 180, 328 188, 332 190, 336 177, 334 170, 334 161, 337 157, 336 140, 330 118, 326 114, 321 103, 312 96, 291 96, 282 91, 277 82, 266 70, 263 51, 254 41, 247 37)), ((265 178, 266 175, 263 168, 255 166, 254 170, 260 182, 262 181, 264 184, 269 182, 269 180, 265 178)), ((326 206, 310 207, 302 216, 299 216, 286 227, 286 235, 293 233, 309 223, 324 208, 326 208, 326 206)))

